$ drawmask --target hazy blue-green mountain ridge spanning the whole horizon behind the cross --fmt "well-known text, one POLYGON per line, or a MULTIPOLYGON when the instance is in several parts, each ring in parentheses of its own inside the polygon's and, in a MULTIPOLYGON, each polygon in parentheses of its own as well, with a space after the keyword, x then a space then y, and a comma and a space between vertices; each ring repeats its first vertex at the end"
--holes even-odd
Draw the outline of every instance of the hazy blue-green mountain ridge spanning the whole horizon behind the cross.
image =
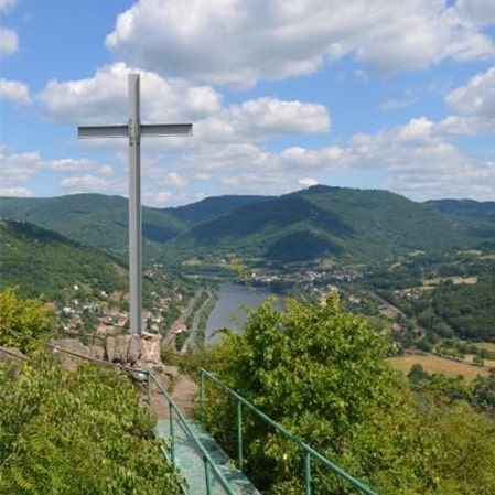
MULTIPOLYGON (((493 212, 493 202, 416 203, 388 191, 326 185, 281 196, 209 197, 143 207, 143 252, 147 261, 173 263, 229 254, 267 262, 373 262, 415 250, 495 246, 493 212)), ((0 198, 0 215, 127 254, 127 200, 119 196, 0 198)))

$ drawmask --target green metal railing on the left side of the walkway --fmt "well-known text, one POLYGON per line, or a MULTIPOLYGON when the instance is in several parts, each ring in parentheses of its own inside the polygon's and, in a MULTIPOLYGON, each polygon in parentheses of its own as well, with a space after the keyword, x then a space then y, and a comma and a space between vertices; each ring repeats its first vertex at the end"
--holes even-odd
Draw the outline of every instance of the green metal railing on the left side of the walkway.
POLYGON ((225 478, 225 476, 218 471, 218 467, 215 465, 215 461, 212 459, 209 453, 206 451, 206 449, 201 443, 200 439, 194 434, 194 432, 191 430, 187 420, 185 419, 182 411, 179 409, 176 403, 173 401, 172 397, 166 391, 166 388, 163 386, 163 384, 153 375, 153 373, 149 369, 146 372, 141 372, 146 374, 146 377, 143 377, 147 381, 147 395, 148 395, 148 401, 151 399, 151 385, 154 383, 154 385, 159 388, 160 392, 163 394, 166 401, 169 402, 169 418, 170 418, 170 452, 166 452, 166 450, 162 449, 162 452, 165 456, 170 459, 170 461, 175 465, 175 432, 174 432, 174 418, 177 421, 177 424, 181 427, 182 431, 186 434, 189 439, 191 439, 194 442, 194 446, 196 451, 200 453, 201 458, 203 459, 204 469, 205 469, 205 487, 206 487, 206 495, 213 495, 213 480, 214 477, 220 483, 222 487, 225 489, 227 495, 236 495, 234 489, 232 488, 228 481, 225 478))

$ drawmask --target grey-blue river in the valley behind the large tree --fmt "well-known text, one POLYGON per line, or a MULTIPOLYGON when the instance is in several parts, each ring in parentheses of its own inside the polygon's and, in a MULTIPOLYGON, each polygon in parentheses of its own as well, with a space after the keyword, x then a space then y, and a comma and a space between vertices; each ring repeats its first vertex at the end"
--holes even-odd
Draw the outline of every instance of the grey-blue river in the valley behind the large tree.
MULTIPOLYGON (((258 308, 271 292, 267 289, 246 287, 240 283, 225 282, 218 289, 218 299, 206 321, 205 344, 218 340, 217 329, 230 329, 239 332, 246 323, 246 311, 241 306, 258 308)), ((276 308, 282 308, 282 301, 277 301, 276 308)))

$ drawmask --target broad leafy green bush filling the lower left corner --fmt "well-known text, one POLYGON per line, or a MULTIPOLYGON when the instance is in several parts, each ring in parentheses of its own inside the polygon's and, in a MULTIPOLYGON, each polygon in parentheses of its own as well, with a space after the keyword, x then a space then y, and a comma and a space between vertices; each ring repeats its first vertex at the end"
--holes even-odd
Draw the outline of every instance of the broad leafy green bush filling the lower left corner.
POLYGON ((44 355, 18 373, 0 365, 0 493, 179 494, 127 378, 92 364, 71 373, 44 355))

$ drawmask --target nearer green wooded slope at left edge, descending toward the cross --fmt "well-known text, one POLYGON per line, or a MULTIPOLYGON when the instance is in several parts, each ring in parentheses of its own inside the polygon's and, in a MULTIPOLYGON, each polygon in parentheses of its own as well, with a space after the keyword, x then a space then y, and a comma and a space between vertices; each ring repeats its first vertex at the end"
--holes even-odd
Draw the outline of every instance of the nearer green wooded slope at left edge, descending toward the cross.
POLYGON ((74 286, 126 290, 127 269, 108 255, 26 222, 0 218, 0 289, 60 299, 74 286))

